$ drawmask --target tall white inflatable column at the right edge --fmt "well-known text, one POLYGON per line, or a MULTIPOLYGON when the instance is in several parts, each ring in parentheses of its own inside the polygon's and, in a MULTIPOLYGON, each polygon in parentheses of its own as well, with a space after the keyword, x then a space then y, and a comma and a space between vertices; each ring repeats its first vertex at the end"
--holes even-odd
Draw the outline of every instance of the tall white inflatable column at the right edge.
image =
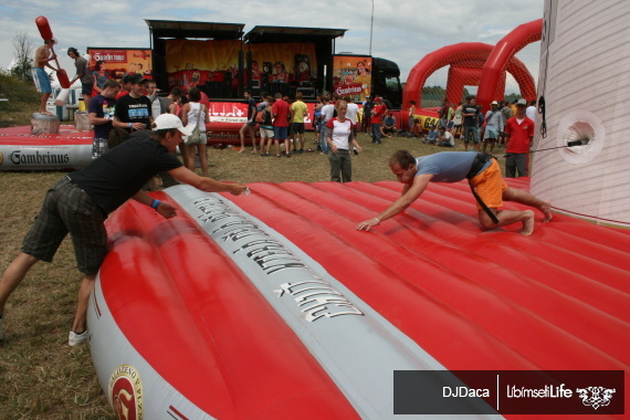
POLYGON ((547 0, 532 191, 567 214, 630 227, 630 2, 547 0), (542 133, 543 127, 546 133, 542 133), (581 146, 566 147, 580 140, 581 146))

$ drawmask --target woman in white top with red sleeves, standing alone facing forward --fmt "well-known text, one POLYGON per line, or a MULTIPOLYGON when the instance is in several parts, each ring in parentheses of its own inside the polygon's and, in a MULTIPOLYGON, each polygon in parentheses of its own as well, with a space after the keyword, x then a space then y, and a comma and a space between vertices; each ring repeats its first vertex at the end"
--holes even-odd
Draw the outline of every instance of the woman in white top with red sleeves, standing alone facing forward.
POLYGON ((326 123, 326 141, 330 149, 330 180, 335 182, 350 182, 353 180, 353 161, 350 158, 350 144, 357 154, 363 149, 354 135, 353 123, 346 118, 348 104, 339 101, 336 106, 337 116, 326 123))

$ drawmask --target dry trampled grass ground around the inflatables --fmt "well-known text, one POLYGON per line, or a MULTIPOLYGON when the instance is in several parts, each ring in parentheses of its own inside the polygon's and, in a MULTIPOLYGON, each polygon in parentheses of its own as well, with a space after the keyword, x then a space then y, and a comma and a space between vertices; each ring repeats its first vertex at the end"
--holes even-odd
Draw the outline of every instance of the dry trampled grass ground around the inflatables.
MULTIPOLYGON (((29 106, 35 107, 32 103, 29 106)), ((0 107, 0 118, 12 125, 28 125, 30 113, 19 106, 15 111, 0 107)), ((315 148, 313 134, 306 137, 307 147, 315 148)), ((397 149, 408 149, 414 156, 444 150, 401 137, 372 145, 361 134, 359 143, 365 151, 353 156, 353 177, 368 182, 395 179, 387 161, 397 149)), ((455 150, 463 147, 459 145, 455 150)), ((249 150, 210 148, 208 156, 210 177, 218 180, 251 183, 329 179, 327 157, 317 151, 263 158, 249 150)), ((503 159, 500 161, 503 165, 503 159)), ((62 176, 0 172, 0 272, 18 254, 46 189, 62 176)), ((36 264, 9 300, 4 342, 0 342, 0 419, 114 418, 96 380, 90 347, 67 346, 80 277, 66 240, 54 262, 36 264)))

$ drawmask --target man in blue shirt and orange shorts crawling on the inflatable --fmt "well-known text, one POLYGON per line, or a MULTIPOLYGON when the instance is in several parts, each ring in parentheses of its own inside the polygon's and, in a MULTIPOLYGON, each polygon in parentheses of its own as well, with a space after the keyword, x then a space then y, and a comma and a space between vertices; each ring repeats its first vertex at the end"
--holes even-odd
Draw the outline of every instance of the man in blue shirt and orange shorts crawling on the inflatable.
POLYGON ((405 211, 427 189, 429 182, 459 182, 469 179, 477 200, 479 221, 483 230, 522 222, 522 234, 534 232, 532 210, 502 210, 503 201, 516 201, 538 209, 545 221, 552 220, 549 202, 537 199, 529 192, 510 188, 501 176, 495 159, 476 151, 442 151, 414 158, 407 150, 398 150, 389 160, 391 171, 402 187, 402 195, 377 217, 356 225, 357 230, 369 230, 386 219, 405 211))

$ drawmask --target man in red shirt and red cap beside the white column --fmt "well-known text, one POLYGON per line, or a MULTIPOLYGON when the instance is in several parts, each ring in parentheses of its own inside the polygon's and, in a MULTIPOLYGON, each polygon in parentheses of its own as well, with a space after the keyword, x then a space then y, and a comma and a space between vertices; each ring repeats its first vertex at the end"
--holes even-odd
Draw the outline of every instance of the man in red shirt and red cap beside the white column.
POLYGON ((505 148, 505 177, 526 177, 529 145, 534 138, 534 122, 527 118, 526 99, 518 99, 516 114, 505 125, 507 147, 505 148))

